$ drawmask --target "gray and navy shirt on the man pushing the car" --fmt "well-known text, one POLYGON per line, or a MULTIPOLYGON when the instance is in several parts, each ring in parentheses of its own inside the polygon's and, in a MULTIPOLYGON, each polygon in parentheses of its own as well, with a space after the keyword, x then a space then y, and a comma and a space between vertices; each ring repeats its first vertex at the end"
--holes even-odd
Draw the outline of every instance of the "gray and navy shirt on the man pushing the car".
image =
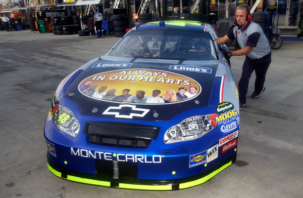
POLYGON ((255 22, 249 21, 244 29, 235 26, 227 33, 227 36, 230 39, 236 39, 237 36, 241 49, 246 48, 246 46, 254 47, 251 52, 246 55, 251 59, 262 58, 270 53, 271 48, 263 29, 255 22))

